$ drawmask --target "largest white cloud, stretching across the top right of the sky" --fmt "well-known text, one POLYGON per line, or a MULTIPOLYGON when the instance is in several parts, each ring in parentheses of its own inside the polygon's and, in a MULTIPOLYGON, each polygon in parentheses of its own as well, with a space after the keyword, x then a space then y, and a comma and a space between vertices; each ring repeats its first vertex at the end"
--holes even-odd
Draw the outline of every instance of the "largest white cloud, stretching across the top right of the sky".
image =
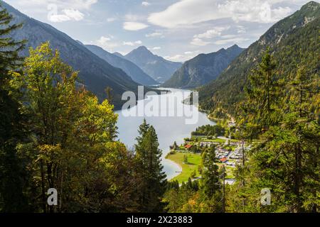
POLYGON ((148 21, 156 26, 178 28, 195 23, 232 18, 233 21, 272 23, 287 16, 289 7, 274 6, 284 0, 181 0, 164 11, 151 13, 148 21))

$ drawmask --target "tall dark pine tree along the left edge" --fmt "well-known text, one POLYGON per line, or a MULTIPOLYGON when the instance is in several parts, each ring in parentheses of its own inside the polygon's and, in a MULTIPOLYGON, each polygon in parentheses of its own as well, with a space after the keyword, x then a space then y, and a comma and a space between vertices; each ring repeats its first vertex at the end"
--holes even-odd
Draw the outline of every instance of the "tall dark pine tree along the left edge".
POLYGON ((27 199, 23 195, 27 173, 23 161, 16 153, 16 145, 23 140, 24 116, 17 97, 19 91, 11 86, 11 72, 20 70, 22 58, 18 52, 23 41, 17 42, 10 34, 21 27, 11 25, 12 16, 0 3, 0 211, 26 211, 27 199))

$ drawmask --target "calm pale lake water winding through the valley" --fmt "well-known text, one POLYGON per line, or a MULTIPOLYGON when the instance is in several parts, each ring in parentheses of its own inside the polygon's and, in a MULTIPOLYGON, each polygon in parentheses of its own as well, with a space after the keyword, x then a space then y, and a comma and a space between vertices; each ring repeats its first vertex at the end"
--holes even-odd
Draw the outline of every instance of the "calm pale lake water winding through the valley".
MULTIPOLYGON (((163 89, 163 88, 162 88, 163 89)), ((138 101, 137 106, 132 107, 130 112, 138 113, 138 110, 144 110, 144 116, 127 116, 127 111, 117 111, 119 114, 119 120, 117 123, 119 131, 119 140, 127 145, 128 148, 133 148, 136 143, 135 138, 138 136, 138 128, 142 124, 144 118, 147 123, 154 126, 159 138, 159 148, 163 151, 162 162, 164 165, 164 171, 167 178, 172 179, 178 175, 177 171, 181 171, 180 167, 176 163, 166 160, 164 157, 169 153, 169 146, 176 143, 183 143, 183 138, 191 136, 191 132, 195 131, 198 126, 214 125, 213 121, 210 121, 206 114, 198 111, 196 106, 188 106, 183 104, 182 101, 178 101, 181 95, 188 96, 191 91, 182 89, 166 89, 171 91, 168 94, 151 95, 146 99, 138 101), (174 105, 162 104, 161 100, 173 100, 176 99, 174 105), (153 108, 145 108, 145 106, 154 106, 153 108), (188 109, 187 114, 193 113, 193 116, 198 116, 198 121, 193 124, 187 124, 186 120, 190 120, 191 116, 181 116, 181 111, 184 113, 188 109), (154 116, 150 116, 151 113, 154 116), (180 113, 180 114, 179 114, 180 113), (166 116, 164 116, 164 115, 166 116)), ((168 101, 169 102, 169 101, 168 101)))

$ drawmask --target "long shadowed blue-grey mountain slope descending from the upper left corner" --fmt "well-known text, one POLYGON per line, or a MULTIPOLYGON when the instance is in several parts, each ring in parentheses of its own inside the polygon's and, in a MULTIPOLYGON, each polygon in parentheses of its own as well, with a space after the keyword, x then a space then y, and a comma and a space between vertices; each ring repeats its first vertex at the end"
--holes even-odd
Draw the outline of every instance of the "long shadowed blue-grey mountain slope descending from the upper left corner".
POLYGON ((13 23, 23 23, 23 27, 12 33, 15 40, 27 40, 26 48, 21 55, 28 55, 28 48, 36 48, 41 43, 50 42, 50 47, 60 51, 60 57, 79 71, 80 82, 102 100, 107 97, 106 87, 112 88, 114 106, 122 106, 121 96, 124 92, 137 92, 139 84, 129 77, 123 70, 110 65, 98 57, 85 46, 73 40, 65 33, 58 31, 47 23, 30 18, 14 7, 0 1, 1 5, 14 16, 13 23))

